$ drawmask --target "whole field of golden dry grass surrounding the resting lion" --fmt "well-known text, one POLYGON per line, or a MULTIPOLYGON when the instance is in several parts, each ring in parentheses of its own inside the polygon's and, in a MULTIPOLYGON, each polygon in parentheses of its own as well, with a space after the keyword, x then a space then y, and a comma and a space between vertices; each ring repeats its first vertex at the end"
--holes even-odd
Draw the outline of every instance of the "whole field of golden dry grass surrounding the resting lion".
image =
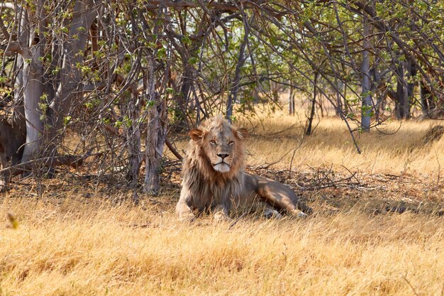
POLYGON ((243 121, 248 170, 293 187, 308 219, 181 224, 177 177, 137 206, 74 177, 40 198, 23 185, 0 199, 0 295, 444 295, 444 139, 424 141, 439 123, 357 135, 360 155, 337 119, 305 138, 295 123, 243 121))

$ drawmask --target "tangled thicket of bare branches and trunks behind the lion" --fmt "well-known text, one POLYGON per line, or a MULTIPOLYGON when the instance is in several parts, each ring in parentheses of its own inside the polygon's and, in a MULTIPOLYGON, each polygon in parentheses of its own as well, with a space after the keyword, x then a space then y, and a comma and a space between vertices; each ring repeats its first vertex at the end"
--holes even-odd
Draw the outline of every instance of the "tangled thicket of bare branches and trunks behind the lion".
POLYGON ((155 194, 169 138, 283 91, 307 134, 320 97, 350 131, 440 117, 443 21, 433 0, 3 2, 0 189, 94 158, 155 194))

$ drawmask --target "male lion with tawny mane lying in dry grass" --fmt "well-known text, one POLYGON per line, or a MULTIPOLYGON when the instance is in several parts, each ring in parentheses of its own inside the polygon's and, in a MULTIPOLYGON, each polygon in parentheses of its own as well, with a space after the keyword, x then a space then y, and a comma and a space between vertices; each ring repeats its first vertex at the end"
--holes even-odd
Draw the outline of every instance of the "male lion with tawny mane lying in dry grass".
POLYGON ((244 171, 245 128, 232 126, 221 115, 189 132, 191 140, 182 163, 182 191, 176 212, 180 220, 194 220, 194 210, 209 211, 214 219, 229 219, 231 207, 265 203, 266 216, 306 216, 311 208, 287 185, 244 171))

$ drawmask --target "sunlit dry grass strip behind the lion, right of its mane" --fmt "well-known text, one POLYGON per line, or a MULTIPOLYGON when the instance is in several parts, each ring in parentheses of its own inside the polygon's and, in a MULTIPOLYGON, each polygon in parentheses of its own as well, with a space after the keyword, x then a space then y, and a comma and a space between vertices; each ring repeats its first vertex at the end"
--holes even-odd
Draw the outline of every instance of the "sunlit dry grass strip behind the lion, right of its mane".
MULTIPOLYGON (((427 131, 442 121, 388 121, 370 133, 355 133, 362 149, 358 154, 345 124, 338 118, 316 123, 311 136, 304 134, 304 117, 278 112, 261 121, 242 121, 252 130, 248 163, 274 163, 274 167, 304 170, 307 165, 333 166, 368 173, 414 173, 437 178, 444 170, 444 137, 424 144, 427 131), (300 120, 303 119, 303 120, 300 120), (301 122, 302 121, 302 122, 301 122), (390 134, 387 134, 390 133, 390 134), (299 147, 299 148, 298 148, 299 147), (293 151, 296 149, 293 157, 293 151), (285 153, 289 152, 287 155, 285 153), (441 166, 443 164, 443 166, 441 166)), ((353 126, 355 128, 355 126, 353 126)))

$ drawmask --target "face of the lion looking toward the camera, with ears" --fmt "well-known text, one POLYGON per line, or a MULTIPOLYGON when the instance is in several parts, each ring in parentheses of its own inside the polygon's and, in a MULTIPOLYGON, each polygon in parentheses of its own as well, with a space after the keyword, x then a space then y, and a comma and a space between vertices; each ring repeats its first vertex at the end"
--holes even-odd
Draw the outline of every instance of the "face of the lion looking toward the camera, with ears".
MULTIPOLYGON (((192 140, 201 146, 216 172, 229 172, 243 157, 243 140, 248 135, 245 128, 234 128, 225 119, 218 119, 190 131, 192 140)), ((236 168, 237 169, 237 168, 236 168)))

